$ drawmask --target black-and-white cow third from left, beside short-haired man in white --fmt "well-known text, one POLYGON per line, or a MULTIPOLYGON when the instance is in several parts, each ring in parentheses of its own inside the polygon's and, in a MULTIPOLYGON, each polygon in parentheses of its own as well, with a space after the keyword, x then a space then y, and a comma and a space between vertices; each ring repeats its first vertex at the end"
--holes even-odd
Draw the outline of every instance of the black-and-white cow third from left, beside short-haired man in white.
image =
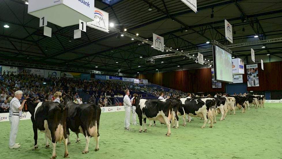
MULTIPOLYGON (((170 136, 170 119, 172 115, 172 101, 170 99, 140 99, 135 97, 133 99, 133 106, 136 106, 136 113, 138 115, 140 130, 142 132, 142 119, 144 119, 144 132, 147 131, 146 119, 158 120, 161 123, 165 123, 168 127, 166 136, 170 136)), ((174 119, 172 119, 174 120, 174 119)))

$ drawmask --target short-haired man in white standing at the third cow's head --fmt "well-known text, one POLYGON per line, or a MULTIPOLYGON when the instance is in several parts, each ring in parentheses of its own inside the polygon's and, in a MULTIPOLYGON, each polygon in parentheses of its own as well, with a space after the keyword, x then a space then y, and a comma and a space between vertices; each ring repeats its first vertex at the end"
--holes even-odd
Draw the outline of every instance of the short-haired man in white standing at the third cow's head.
POLYGON ((131 101, 129 98, 129 90, 124 90, 125 96, 123 97, 123 105, 124 105, 124 109, 125 109, 125 119, 124 119, 124 129, 125 130, 129 130, 131 131, 131 129, 129 129, 129 125, 130 125, 130 109, 131 109, 131 101))

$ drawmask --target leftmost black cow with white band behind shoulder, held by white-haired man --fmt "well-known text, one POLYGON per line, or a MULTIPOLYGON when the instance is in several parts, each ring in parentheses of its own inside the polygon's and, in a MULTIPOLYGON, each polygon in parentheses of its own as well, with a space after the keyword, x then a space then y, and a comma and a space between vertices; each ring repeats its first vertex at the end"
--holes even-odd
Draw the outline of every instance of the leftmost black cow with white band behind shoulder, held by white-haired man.
POLYGON ((56 143, 64 140, 65 144, 65 158, 69 153, 67 150, 67 133, 66 133, 66 119, 68 108, 61 103, 54 102, 40 102, 33 103, 27 101, 27 106, 24 111, 29 111, 31 114, 31 121, 34 132, 34 147, 33 150, 38 149, 37 146, 37 129, 45 133, 46 148, 49 147, 48 138, 52 141, 53 153, 51 158, 54 159, 56 155, 56 143))

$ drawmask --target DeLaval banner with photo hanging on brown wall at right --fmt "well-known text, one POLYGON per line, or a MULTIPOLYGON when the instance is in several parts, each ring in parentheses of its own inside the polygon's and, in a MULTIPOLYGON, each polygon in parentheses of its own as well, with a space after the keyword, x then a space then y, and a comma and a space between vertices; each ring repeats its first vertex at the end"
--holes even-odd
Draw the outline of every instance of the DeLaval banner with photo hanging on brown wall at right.
POLYGON ((246 65, 246 68, 247 68, 248 87, 260 86, 257 64, 246 65))

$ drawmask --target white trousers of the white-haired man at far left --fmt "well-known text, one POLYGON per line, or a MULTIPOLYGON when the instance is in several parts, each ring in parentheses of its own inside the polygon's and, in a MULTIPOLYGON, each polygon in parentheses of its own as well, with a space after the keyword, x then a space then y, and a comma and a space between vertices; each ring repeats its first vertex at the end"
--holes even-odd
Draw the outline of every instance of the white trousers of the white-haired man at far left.
POLYGON ((20 117, 17 115, 12 115, 12 117, 9 117, 9 120, 11 124, 9 145, 10 147, 12 147, 16 144, 16 137, 18 134, 18 128, 19 128, 18 125, 20 122, 20 117))

